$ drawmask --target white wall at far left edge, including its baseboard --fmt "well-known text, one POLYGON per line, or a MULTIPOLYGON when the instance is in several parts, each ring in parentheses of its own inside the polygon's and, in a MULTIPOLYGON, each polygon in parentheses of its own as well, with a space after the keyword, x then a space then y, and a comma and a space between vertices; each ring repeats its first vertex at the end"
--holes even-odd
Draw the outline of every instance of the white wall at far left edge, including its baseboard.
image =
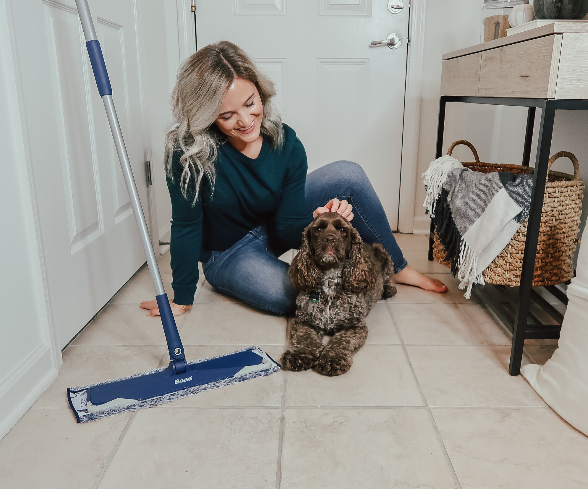
POLYGON ((0 0, 0 438, 61 364, 61 352, 51 348, 8 19, 0 0))

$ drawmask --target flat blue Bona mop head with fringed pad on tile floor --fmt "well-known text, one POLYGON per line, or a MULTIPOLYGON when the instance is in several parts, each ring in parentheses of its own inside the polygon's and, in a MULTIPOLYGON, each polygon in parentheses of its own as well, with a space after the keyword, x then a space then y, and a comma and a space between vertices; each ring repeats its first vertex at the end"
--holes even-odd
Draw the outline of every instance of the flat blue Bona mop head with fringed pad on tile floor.
POLYGON ((148 370, 124 379, 68 388, 68 401, 78 423, 87 423, 267 376, 278 370, 278 363, 259 346, 252 346, 228 355, 191 361, 181 374, 175 373, 170 364, 165 369, 148 370))

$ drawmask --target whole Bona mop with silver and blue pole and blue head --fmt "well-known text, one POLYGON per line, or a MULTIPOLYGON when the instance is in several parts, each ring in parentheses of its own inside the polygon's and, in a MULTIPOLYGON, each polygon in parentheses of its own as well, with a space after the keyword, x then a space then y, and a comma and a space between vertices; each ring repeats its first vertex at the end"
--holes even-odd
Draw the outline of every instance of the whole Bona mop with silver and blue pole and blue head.
POLYGON ((267 376, 280 369, 280 366, 260 347, 247 347, 227 355, 206 359, 186 361, 182 340, 178 333, 168 296, 163 289, 161 274, 153 253, 149 231, 131 162, 122 138, 121 126, 112 101, 112 88, 106 72, 100 43, 88 6, 88 0, 75 0, 78 7, 86 48, 92 63, 92 70, 102 97, 106 116, 114 139, 116 153, 121 162, 122 174, 131 198, 139 235, 145 249, 149 273, 155 286, 155 299, 159 306, 163 331, 169 350, 169 366, 148 370, 129 377, 98 384, 68 388, 68 401, 78 423, 98 420, 115 414, 168 403, 181 397, 193 396, 213 388, 229 386, 236 382, 267 376))

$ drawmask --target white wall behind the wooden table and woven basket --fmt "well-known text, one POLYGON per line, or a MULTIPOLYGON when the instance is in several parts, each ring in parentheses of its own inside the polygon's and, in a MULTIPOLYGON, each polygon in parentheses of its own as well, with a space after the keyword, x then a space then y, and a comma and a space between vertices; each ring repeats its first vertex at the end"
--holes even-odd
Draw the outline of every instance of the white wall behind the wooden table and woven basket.
MULTIPOLYGON (((483 0, 427 1, 425 18, 425 61, 423 63, 422 105, 415 197, 415 233, 429 232, 429 217, 425 216, 423 173, 435 159, 441 55, 479 43, 483 0)), ((520 164, 523 158, 527 109, 473 104, 447 104, 443 148, 456 139, 469 140, 480 159, 492 163, 520 164)), ((540 110, 537 110, 535 139, 539 132, 540 110)), ((582 176, 588 179, 588 113, 559 111, 556 113, 551 153, 568 150, 580 161, 582 176)), ((453 153, 457 159, 472 161, 471 152, 461 146, 453 153)), ((531 155, 534 166, 535 152, 531 155)), ((553 169, 573 173, 567 159, 554 163, 553 169)), ((586 201, 584 202, 586 205, 586 201)), ((583 217, 585 222, 586 217, 583 217)))

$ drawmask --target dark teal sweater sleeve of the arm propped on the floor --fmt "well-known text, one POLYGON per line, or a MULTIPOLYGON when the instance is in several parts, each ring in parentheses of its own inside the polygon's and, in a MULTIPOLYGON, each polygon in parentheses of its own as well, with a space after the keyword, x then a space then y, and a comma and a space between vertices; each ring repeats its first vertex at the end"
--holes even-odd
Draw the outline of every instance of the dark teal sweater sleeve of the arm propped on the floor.
MULTIPOLYGON (((179 155, 173 163, 179 164, 179 155)), ((172 200, 172 230, 170 245, 173 276, 173 302, 183 306, 194 302, 198 284, 198 262, 202 246, 202 204, 192 202, 182 195, 179 177, 168 176, 169 196, 172 200)))

